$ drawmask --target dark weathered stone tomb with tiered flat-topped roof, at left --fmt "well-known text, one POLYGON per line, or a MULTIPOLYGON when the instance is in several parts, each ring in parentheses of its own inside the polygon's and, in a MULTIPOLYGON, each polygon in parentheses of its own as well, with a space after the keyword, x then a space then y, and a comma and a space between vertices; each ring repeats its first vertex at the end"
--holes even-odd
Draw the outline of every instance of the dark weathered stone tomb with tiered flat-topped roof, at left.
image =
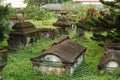
POLYGON ((40 38, 40 30, 30 22, 18 22, 13 25, 8 44, 10 49, 21 49, 40 38))

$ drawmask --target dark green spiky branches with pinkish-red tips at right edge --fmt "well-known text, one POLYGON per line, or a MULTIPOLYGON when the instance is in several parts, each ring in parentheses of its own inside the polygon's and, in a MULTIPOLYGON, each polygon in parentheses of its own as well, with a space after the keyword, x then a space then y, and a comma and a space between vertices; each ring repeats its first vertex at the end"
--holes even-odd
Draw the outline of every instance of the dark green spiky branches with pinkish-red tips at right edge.
MULTIPOLYGON (((113 1, 113 2, 104 2, 101 0, 103 4, 107 5, 107 8, 104 7, 103 10, 99 11, 99 16, 94 17, 94 15, 91 15, 91 18, 86 20, 85 29, 93 32, 93 40, 96 41, 105 41, 107 39, 113 41, 113 42, 119 42, 120 41, 120 10, 116 4, 119 3, 119 1, 113 1), (111 6, 111 3, 113 3, 113 7, 111 6), (102 35, 102 33, 106 32, 106 35, 102 35)), ((89 14, 88 14, 89 15, 89 14)), ((83 28, 84 29, 84 28, 83 28)))

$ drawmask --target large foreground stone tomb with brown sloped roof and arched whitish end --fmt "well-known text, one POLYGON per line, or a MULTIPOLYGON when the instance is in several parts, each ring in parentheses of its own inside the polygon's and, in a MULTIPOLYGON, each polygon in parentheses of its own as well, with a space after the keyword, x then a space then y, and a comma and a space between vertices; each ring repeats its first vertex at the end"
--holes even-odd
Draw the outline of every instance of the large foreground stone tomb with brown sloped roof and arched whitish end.
POLYGON ((83 62, 85 51, 85 47, 66 37, 30 60, 36 71, 72 75, 75 68, 83 62))

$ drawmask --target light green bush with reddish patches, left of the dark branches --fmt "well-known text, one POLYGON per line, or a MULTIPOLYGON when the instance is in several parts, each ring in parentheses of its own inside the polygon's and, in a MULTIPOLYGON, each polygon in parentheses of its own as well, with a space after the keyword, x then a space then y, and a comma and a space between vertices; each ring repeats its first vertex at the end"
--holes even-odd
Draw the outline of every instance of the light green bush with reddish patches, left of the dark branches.
POLYGON ((86 22, 94 16, 95 11, 94 5, 84 6, 82 4, 76 4, 75 9, 71 11, 72 13, 70 15, 74 15, 72 19, 75 21, 78 28, 88 30, 89 28, 85 27, 86 22))

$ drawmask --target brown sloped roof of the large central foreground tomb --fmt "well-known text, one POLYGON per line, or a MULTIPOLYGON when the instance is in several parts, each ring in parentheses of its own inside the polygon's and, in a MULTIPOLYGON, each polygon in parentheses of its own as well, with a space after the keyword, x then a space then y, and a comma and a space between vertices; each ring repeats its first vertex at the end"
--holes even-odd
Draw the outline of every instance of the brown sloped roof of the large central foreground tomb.
POLYGON ((74 42, 71 39, 63 39, 57 43, 54 43, 50 48, 45 50, 37 57, 31 58, 32 61, 39 61, 46 55, 55 55, 59 57, 63 63, 73 64, 76 59, 86 51, 86 48, 80 44, 74 42))

